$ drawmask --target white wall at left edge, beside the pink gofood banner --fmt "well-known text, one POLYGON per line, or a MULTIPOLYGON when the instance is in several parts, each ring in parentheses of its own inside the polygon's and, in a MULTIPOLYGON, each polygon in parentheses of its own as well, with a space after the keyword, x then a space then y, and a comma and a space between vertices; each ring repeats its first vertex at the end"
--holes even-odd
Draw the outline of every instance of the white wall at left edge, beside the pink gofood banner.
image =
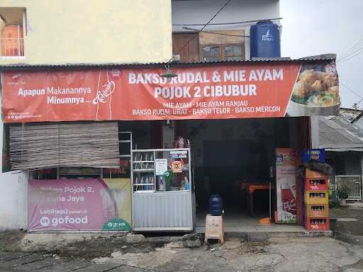
MULTIPOLYGON (((3 148, 4 124, 0 123, 0 150, 3 148)), ((2 156, 0 156, 0 166, 2 156)), ((0 232, 26 229, 28 220, 28 176, 25 173, 0 171, 0 232)))

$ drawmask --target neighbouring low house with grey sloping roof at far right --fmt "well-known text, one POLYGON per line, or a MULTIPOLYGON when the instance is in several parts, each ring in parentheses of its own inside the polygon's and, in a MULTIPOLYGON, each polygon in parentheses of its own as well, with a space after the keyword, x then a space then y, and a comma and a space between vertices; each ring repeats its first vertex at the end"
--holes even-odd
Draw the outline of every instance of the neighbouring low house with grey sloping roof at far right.
POLYGON ((325 148, 334 176, 342 176, 339 179, 345 180, 349 178, 349 186, 360 186, 354 187, 354 192, 351 191, 354 197, 350 198, 362 198, 363 132, 345 118, 320 117, 319 147, 325 148))

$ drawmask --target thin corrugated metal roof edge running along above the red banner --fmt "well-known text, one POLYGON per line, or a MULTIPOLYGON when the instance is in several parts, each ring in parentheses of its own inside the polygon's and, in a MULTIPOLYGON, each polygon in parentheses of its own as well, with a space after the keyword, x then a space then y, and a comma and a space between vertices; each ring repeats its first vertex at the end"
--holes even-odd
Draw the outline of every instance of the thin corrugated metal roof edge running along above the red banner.
MULTIPOLYGON (((334 54, 319 55, 312 57, 302 57, 299 59, 289 59, 286 57, 281 58, 259 58, 256 60, 225 60, 216 62, 172 62, 172 67, 177 66, 192 66, 192 65, 215 65, 215 64, 233 64, 233 63, 255 63, 255 62, 315 62, 321 60, 335 60, 334 54)), ((47 69, 47 68, 99 68, 99 67, 164 67, 166 62, 147 62, 147 63, 122 63, 122 62, 108 62, 108 63, 60 63, 60 64, 0 64, 0 69, 47 69)))

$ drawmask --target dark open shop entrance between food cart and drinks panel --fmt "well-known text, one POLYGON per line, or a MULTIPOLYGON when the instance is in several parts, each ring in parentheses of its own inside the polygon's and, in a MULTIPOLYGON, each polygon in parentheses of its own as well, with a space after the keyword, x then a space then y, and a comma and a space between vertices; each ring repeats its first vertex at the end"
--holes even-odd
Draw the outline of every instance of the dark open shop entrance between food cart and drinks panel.
POLYGON ((295 119, 188 120, 185 127, 194 156, 197 227, 213 194, 223 199, 226 226, 256 225, 269 217, 270 182, 272 211, 276 203, 270 176, 275 148, 295 147, 295 119), (258 187, 253 193, 251 185, 258 187))

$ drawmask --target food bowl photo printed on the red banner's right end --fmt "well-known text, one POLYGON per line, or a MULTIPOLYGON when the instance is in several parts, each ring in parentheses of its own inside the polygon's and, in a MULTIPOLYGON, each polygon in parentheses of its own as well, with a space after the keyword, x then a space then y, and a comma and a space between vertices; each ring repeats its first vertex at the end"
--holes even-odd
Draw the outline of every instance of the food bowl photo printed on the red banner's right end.
POLYGON ((337 75, 306 69, 298 75, 286 114, 336 115, 339 108, 337 75))

